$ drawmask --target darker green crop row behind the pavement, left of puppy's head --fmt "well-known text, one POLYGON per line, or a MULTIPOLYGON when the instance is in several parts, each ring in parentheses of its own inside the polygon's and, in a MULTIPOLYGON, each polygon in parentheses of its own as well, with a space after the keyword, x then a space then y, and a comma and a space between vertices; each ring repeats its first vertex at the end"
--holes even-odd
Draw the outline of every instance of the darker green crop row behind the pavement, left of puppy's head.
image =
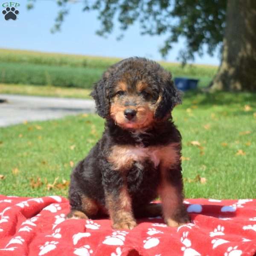
POLYGON ((0 62, 0 82, 91 88, 104 69, 0 62))

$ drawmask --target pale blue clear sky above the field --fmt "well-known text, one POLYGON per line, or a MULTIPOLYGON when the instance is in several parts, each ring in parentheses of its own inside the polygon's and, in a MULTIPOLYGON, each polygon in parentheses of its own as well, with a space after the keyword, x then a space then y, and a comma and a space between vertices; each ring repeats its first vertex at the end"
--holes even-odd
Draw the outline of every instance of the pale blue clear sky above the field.
MULTIPOLYGON (((82 3, 76 3, 70 4, 70 14, 65 18, 61 32, 52 34, 50 29, 58 12, 54 0, 37 0, 32 10, 26 9, 27 0, 17 2, 20 3, 17 20, 6 21, 2 14, 2 4, 6 0, 0 0, 0 48, 120 58, 140 56, 157 61, 163 59, 158 49, 163 45, 165 36, 140 35, 138 23, 125 32, 121 41, 116 40, 120 34, 118 26, 108 38, 102 38, 95 33, 100 27, 97 13, 82 12, 82 3)), ((177 62, 183 44, 182 39, 174 44, 166 61, 177 62)), ((216 51, 213 57, 207 53, 203 57, 196 55, 194 63, 219 65, 219 53, 216 51)))

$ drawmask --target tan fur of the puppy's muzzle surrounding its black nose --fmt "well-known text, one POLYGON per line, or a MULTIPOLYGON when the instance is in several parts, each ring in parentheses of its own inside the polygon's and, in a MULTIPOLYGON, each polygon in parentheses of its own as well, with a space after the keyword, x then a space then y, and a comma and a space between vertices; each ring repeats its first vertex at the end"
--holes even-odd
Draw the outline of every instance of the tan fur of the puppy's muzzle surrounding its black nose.
POLYGON ((110 108, 110 115, 115 120, 116 125, 122 128, 142 129, 148 128, 154 122, 154 111, 150 104, 138 105, 137 107, 125 107, 119 103, 113 103, 110 108), (125 118, 124 111, 127 108, 137 111, 134 120, 129 121, 125 118))

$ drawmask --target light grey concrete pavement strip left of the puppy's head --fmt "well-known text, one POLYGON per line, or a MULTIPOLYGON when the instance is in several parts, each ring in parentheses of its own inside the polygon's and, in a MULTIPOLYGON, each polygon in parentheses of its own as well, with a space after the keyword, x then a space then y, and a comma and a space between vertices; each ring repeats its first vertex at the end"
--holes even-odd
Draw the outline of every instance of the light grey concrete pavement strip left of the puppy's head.
POLYGON ((42 121, 79 113, 95 113, 90 99, 64 99, 0 94, 0 127, 24 121, 42 121))

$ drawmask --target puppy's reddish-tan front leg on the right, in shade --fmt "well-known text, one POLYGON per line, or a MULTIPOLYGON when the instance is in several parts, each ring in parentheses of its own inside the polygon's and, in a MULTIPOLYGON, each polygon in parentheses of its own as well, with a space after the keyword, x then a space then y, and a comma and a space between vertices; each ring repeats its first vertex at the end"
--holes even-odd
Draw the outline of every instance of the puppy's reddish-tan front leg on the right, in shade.
POLYGON ((159 195, 162 200, 163 218, 170 227, 189 222, 189 215, 183 205, 183 182, 180 165, 161 169, 159 195))

